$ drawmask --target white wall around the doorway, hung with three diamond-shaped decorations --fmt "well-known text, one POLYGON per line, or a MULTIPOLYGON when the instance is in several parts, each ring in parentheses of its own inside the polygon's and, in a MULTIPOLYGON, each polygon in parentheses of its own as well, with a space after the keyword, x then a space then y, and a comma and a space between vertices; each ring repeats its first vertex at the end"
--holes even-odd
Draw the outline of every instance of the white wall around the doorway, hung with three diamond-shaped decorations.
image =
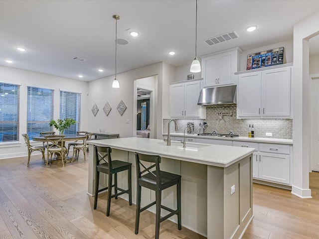
POLYGON ((91 112, 87 112, 90 122, 89 130, 98 131, 99 128, 106 128, 108 132, 119 133, 120 137, 133 136, 133 128, 136 126, 136 123, 134 124, 136 120, 136 114, 134 115, 134 101, 136 99, 134 95, 134 81, 136 79, 157 75, 156 119, 158 123, 156 125, 156 132, 157 137, 161 137, 162 114, 163 112, 166 114, 166 108, 169 102, 167 102, 169 82, 173 79, 174 73, 174 67, 160 62, 118 74, 117 79, 120 82, 120 88, 118 89, 112 88, 114 76, 89 82, 89 107, 92 108, 93 104, 96 103, 100 109, 96 117, 94 117, 91 112), (123 116, 121 116, 116 109, 121 100, 123 100, 127 106, 123 116), (103 107, 106 102, 109 102, 112 107, 108 117, 103 112, 103 107), (129 121, 129 123, 127 123, 127 121, 129 121))

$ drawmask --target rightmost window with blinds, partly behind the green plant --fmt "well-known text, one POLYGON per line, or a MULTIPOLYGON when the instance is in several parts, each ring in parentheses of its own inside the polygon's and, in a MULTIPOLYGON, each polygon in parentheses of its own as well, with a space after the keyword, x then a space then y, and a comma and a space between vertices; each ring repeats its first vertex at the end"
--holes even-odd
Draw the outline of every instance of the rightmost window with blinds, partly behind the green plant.
POLYGON ((76 121, 64 134, 76 134, 80 128, 81 93, 60 91, 60 119, 72 118, 76 121))

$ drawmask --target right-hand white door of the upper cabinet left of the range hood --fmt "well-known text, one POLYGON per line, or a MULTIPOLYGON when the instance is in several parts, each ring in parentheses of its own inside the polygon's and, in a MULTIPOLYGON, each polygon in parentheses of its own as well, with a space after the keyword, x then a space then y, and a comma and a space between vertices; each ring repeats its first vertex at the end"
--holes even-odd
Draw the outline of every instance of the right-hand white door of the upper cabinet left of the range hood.
POLYGON ((184 116, 199 117, 200 106, 197 105, 200 94, 200 82, 185 83, 184 89, 184 116))

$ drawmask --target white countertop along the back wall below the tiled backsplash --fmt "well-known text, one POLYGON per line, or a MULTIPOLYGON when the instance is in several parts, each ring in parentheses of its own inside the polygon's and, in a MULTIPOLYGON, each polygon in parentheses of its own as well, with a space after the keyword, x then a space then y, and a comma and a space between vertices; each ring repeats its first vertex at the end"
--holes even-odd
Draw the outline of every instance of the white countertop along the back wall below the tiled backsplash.
MULTIPOLYGON (((163 133, 163 135, 167 136, 167 133, 163 133)), ((171 136, 184 136, 183 133, 170 133, 171 136)), ((247 141, 247 142, 260 142, 260 143, 281 143, 281 144, 293 144, 292 139, 285 138, 249 138, 249 137, 213 137, 213 136, 201 136, 197 134, 186 134, 186 137, 194 137, 194 138, 208 138, 208 139, 222 139, 222 140, 232 140, 232 141, 247 141)))

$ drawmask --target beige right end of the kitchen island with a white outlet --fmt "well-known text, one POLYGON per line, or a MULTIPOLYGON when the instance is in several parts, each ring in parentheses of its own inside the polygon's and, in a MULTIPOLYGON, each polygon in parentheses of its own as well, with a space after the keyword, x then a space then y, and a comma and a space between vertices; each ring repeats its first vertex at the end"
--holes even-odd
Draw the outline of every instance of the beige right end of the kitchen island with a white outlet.
POLYGON ((207 166, 207 239, 239 239, 252 220, 251 157, 227 168, 207 166))

